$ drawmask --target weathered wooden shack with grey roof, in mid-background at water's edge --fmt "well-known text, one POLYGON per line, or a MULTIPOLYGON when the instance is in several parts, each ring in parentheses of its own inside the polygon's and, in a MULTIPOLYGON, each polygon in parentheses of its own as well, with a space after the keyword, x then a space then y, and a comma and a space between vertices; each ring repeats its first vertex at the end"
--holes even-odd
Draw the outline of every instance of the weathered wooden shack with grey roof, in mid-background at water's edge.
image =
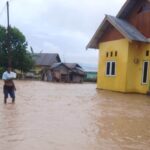
POLYGON ((76 63, 55 63, 51 67, 53 81, 82 83, 85 71, 76 63))

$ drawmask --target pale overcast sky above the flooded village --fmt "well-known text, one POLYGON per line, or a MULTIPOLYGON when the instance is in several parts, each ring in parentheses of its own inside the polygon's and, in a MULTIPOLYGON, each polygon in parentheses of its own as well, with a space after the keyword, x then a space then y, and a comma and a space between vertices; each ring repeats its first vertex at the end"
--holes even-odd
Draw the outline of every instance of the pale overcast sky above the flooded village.
MULTIPOLYGON (((105 14, 116 15, 126 0, 11 0, 10 23, 35 52, 59 53, 62 61, 97 65, 98 51, 85 50, 105 14)), ((0 24, 6 26, 5 0, 0 24)))

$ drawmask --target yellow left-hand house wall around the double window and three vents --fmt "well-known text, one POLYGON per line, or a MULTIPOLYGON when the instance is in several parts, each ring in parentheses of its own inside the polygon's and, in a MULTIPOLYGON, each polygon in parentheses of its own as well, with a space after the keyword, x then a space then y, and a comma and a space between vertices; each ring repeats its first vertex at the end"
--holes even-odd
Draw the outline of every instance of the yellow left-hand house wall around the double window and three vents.
POLYGON ((126 92, 129 42, 126 39, 103 42, 99 45, 99 69, 97 88, 126 92), (110 52, 113 57, 110 57, 110 52), (118 52, 117 57, 114 56, 118 52), (109 52, 109 57, 106 53, 109 52), (106 62, 116 61, 116 76, 106 76, 106 62))

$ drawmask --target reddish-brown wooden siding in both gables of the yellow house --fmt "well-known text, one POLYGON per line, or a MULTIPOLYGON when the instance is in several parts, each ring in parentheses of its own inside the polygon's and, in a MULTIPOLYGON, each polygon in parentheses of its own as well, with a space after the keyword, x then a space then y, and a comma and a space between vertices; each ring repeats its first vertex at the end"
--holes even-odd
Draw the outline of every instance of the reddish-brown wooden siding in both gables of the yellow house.
MULTIPOLYGON (((146 38, 150 38, 150 2, 139 1, 128 18, 123 18, 135 26, 146 38), (146 10, 145 10, 146 7, 146 10)), ((101 37, 101 42, 123 39, 124 36, 111 24, 101 37)))

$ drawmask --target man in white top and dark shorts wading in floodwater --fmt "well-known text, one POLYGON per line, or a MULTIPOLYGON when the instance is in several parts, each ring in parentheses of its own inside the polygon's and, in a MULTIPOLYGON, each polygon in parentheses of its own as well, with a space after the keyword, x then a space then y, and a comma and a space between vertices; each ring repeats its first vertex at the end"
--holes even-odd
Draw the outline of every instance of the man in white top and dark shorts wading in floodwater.
POLYGON ((12 98, 12 103, 15 103, 15 84, 13 82, 13 79, 16 78, 16 74, 11 71, 11 67, 7 68, 7 71, 3 73, 2 79, 4 80, 4 103, 7 103, 8 95, 12 98))

